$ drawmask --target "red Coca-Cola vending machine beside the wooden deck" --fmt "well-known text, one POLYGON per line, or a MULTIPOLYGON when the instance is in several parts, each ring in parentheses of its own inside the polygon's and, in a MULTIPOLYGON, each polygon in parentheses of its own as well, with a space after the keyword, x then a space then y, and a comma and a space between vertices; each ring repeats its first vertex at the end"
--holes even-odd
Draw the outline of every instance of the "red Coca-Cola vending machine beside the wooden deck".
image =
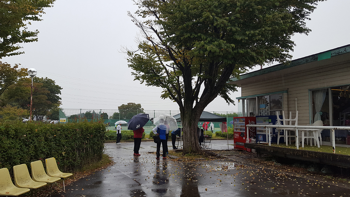
MULTIPOLYGON (((234 148, 251 152, 250 148, 244 148, 247 140, 247 124, 255 124, 255 117, 235 117, 233 118, 234 148)), ((249 139, 256 135, 255 127, 249 127, 249 139)), ((250 142, 250 141, 249 141, 250 142)))

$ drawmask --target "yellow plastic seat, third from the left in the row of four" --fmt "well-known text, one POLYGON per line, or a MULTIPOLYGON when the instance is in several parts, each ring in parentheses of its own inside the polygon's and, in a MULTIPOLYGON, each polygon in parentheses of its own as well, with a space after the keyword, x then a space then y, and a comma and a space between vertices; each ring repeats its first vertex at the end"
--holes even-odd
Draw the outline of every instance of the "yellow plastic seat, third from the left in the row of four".
POLYGON ((44 170, 43 163, 40 160, 31 162, 30 168, 31 168, 31 178, 36 182, 53 183, 61 179, 58 177, 48 176, 44 170))

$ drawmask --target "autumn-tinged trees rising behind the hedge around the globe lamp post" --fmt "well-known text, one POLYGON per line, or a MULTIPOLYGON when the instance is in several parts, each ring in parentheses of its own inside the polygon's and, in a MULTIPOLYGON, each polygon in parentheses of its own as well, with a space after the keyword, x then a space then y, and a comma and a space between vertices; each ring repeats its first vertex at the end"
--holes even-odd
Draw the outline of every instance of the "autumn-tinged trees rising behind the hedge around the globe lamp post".
MULTIPOLYGON (((0 118, 3 120, 22 120, 29 118, 31 79, 26 68, 20 64, 11 66, 0 61, 0 118)), ((34 120, 57 120, 61 105, 62 88, 47 77, 33 77, 34 120), (56 115, 54 118, 52 115, 56 115)))

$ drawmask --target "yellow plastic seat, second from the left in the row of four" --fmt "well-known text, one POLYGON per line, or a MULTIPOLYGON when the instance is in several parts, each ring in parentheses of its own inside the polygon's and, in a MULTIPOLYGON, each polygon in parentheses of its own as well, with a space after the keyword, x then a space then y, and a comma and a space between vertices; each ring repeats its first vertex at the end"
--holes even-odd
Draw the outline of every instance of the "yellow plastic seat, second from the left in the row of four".
POLYGON ((37 189, 47 184, 33 181, 30 178, 26 164, 15 165, 13 167, 13 178, 15 185, 19 188, 37 189))

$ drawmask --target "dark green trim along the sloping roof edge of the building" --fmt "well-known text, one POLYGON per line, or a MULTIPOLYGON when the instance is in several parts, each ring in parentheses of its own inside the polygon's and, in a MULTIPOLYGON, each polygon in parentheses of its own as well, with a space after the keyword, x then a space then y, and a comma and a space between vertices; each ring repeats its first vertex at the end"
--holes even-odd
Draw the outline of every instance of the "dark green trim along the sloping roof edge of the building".
POLYGON ((321 53, 317 53, 314 55, 309 55, 306 57, 302 57, 296 60, 292 60, 288 65, 285 65, 283 63, 281 64, 277 64, 275 66, 270 66, 264 69, 260 69, 260 70, 256 70, 254 72, 250 72, 250 73, 246 73, 246 74, 242 74, 239 76, 240 79, 237 79, 237 77, 232 77, 228 83, 233 82, 233 81, 238 81, 241 79, 247 79, 250 77, 254 77, 254 76, 259 76, 259 75, 263 75, 263 74, 267 74, 267 73, 271 73, 271 72, 275 72, 278 70, 282 70, 282 69, 286 69, 286 68, 291 68, 294 66, 299 66, 301 64, 306 64, 306 63, 310 63, 310 62, 314 62, 314 61, 320 61, 320 60, 324 60, 324 59, 329 59, 331 57, 337 56, 337 55, 342 55, 345 53, 350 53, 350 45, 345 45, 342 47, 338 47, 335 49, 331 49, 331 50, 327 50, 325 52, 321 52, 321 53))

